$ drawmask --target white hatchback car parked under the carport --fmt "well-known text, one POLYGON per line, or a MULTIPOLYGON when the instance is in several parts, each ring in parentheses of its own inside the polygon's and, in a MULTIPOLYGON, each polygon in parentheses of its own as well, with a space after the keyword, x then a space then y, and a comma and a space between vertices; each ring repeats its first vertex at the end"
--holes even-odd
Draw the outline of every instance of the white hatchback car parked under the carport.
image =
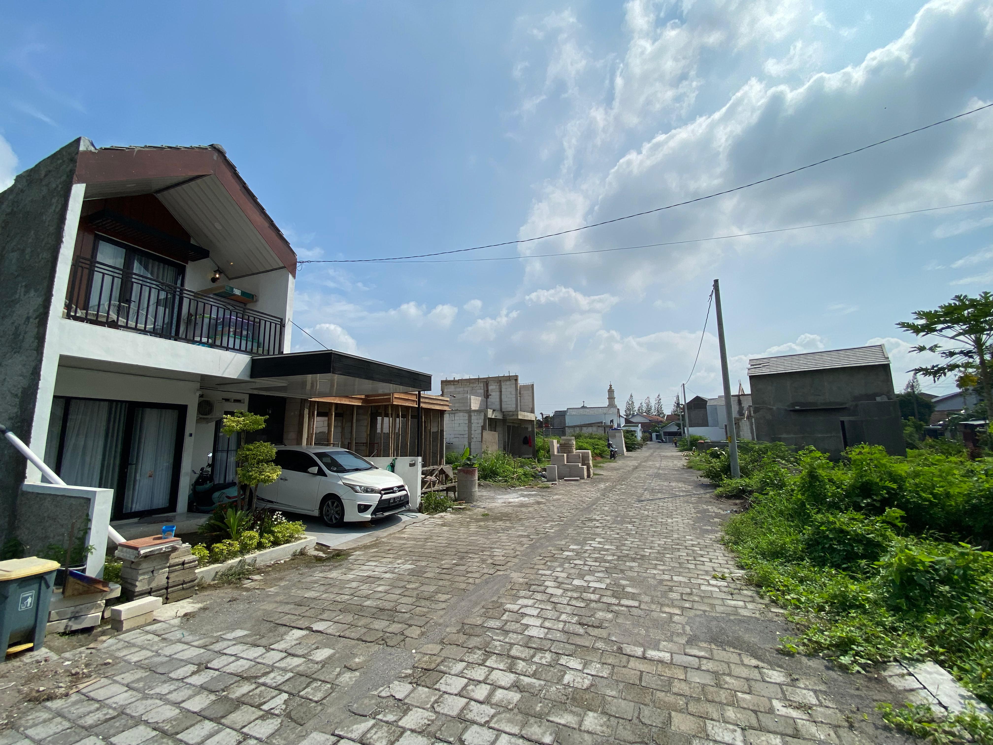
POLYGON ((396 474, 345 448, 327 445, 276 448, 283 473, 259 487, 264 507, 320 516, 325 524, 378 520, 410 508, 407 487, 396 474))

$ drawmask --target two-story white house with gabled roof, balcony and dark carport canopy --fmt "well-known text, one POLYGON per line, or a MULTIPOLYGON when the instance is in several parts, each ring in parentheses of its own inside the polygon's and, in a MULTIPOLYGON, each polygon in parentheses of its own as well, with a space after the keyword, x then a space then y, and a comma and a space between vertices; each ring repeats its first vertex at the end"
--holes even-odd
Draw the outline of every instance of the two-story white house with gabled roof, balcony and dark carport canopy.
MULTIPOLYGON (((113 489, 128 521, 185 512, 209 453, 233 478, 227 411, 296 444, 311 398, 430 389, 426 373, 289 354, 296 271, 219 145, 71 142, 0 193, 0 423, 67 483, 113 489)), ((0 539, 40 479, 0 447, 0 539)))

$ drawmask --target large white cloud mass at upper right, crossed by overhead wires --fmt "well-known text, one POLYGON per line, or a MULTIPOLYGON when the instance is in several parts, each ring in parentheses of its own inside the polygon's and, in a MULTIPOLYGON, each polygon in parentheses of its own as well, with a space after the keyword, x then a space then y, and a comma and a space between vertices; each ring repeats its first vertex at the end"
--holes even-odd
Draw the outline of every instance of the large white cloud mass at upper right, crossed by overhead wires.
MULTIPOLYGON (((670 9, 677 20, 650 4, 627 6, 624 61, 606 92, 602 80, 591 75, 585 97, 580 96, 584 105, 556 127, 560 175, 536 187, 538 198, 520 237, 739 186, 985 102, 972 91, 981 71, 993 68, 993 13, 985 0, 934 0, 899 39, 857 65, 812 74, 797 85, 752 78, 709 113, 666 127, 698 98, 697 70, 715 45, 726 50, 779 39, 806 12, 803 3, 774 9, 762 3, 708 7, 718 5, 721 13, 714 15, 702 4, 677 6, 670 9), (897 90, 900 95, 894 97, 897 90), (886 108, 879 105, 884 100, 886 108), (642 126, 648 122, 654 132, 642 126), (648 136, 642 139, 642 132, 648 136), (632 139, 640 144, 630 147, 632 139)), ((768 186, 610 228, 522 244, 519 250, 577 251, 655 242, 657 235, 696 238, 843 220, 967 202, 991 191, 993 117, 976 114, 768 186)), ((822 240, 858 239, 872 235, 877 225, 832 227, 819 234, 822 240)), ((554 271, 563 284, 584 291, 610 286, 637 295, 649 286, 693 277, 727 253, 768 251, 807 239, 787 233, 582 255, 557 259, 554 265, 536 259, 527 262, 526 279, 535 283, 554 271)))

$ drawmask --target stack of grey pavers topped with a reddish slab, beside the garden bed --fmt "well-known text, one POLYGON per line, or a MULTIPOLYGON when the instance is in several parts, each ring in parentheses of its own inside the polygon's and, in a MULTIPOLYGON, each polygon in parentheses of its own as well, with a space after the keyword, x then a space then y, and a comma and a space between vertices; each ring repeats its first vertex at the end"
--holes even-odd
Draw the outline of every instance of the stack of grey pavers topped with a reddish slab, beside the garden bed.
POLYGON ((197 557, 190 544, 179 538, 127 540, 117 547, 115 555, 123 562, 121 587, 128 600, 152 596, 169 603, 194 594, 197 557))

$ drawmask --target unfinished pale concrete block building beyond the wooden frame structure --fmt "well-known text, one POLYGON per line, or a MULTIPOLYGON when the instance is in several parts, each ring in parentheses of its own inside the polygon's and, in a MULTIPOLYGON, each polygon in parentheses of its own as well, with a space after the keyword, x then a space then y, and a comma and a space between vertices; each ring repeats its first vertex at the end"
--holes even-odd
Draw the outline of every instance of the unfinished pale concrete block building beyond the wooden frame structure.
POLYGON ((502 450, 518 458, 533 458, 536 417, 534 383, 517 375, 463 377, 441 381, 441 394, 450 401, 445 412, 446 448, 473 455, 502 450))

